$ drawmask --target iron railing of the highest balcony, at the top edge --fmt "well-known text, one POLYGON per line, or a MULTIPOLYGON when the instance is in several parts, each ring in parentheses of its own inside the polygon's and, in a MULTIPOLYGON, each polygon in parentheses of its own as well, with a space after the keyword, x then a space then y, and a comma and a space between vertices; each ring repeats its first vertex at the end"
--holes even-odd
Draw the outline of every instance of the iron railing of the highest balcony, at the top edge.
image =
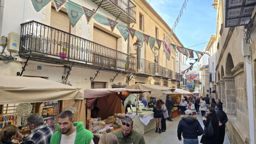
POLYGON ((136 20, 136 5, 130 0, 110 0, 136 20))

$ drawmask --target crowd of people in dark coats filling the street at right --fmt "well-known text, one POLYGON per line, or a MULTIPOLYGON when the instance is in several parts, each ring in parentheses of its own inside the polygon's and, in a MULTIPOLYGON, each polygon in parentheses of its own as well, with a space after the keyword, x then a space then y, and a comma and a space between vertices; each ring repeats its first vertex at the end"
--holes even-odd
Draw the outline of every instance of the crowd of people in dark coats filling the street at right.
POLYGON ((198 144, 198 136, 202 136, 202 144, 223 144, 227 115, 222 110, 222 102, 217 98, 205 98, 196 95, 184 96, 179 105, 181 120, 178 124, 178 140, 183 136, 183 144, 198 144), (201 111, 204 129, 194 114, 201 111))

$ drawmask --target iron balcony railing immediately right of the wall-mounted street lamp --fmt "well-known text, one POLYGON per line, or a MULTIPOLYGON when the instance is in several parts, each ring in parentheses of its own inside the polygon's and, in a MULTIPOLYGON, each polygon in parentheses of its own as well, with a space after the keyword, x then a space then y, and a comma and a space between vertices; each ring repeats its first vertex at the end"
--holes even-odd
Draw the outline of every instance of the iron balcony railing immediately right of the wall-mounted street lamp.
POLYGON ((143 58, 138 59, 138 73, 155 75, 155 63, 147 61, 143 58))

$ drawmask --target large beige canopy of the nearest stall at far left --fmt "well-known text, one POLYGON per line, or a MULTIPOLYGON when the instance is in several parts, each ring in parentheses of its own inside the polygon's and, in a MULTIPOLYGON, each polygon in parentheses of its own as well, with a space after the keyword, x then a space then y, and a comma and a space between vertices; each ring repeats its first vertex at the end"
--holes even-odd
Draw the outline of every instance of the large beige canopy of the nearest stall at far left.
POLYGON ((83 100, 84 91, 40 77, 0 75, 0 104, 83 100))

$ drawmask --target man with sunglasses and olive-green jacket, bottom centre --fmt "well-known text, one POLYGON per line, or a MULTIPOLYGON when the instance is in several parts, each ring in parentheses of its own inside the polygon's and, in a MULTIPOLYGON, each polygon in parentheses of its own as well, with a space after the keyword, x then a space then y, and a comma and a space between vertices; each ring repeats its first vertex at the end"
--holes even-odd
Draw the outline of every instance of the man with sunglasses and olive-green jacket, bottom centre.
POLYGON ((126 117, 122 122, 122 129, 114 133, 119 144, 145 144, 143 136, 132 128, 132 119, 126 117))

